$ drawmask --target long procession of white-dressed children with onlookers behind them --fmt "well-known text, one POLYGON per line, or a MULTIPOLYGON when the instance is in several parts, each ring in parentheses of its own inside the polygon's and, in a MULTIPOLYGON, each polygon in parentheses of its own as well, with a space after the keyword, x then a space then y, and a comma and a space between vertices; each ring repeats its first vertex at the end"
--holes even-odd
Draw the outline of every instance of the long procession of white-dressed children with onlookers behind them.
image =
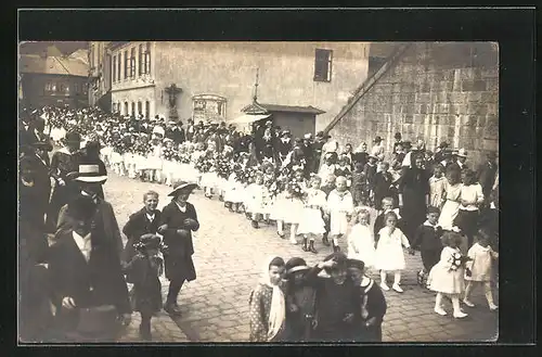
MULTIPOLYGON (((301 243, 306 252, 317 253, 320 240, 334 254, 340 253, 339 245, 347 246, 349 259, 379 272, 384 291, 389 290, 390 273, 391 289, 403 292, 403 250, 418 250, 424 266, 418 283, 437 292, 435 313, 447 314, 442 298, 448 296, 453 316, 465 317, 460 299, 473 307, 476 284, 483 286, 490 309, 496 309, 491 284, 499 207, 493 153, 475 173, 466 166, 465 150, 442 143, 431 153, 423 141, 413 145, 400 135, 387 155, 379 137, 370 151, 366 143, 339 151, 323 132, 293 140, 288 130, 270 122, 250 136, 231 126, 189 123, 191 135, 180 143, 165 138, 167 128, 160 123, 151 127, 137 132, 109 123, 102 135, 103 160, 118 175, 166 184, 196 182, 206 197, 217 196, 224 209, 244 214, 254 229, 273 225, 285 239, 289 228, 289 242, 301 243)), ((268 269, 281 266, 276 264, 268 269)), ((270 284, 259 298, 280 296, 272 283, 270 284)))

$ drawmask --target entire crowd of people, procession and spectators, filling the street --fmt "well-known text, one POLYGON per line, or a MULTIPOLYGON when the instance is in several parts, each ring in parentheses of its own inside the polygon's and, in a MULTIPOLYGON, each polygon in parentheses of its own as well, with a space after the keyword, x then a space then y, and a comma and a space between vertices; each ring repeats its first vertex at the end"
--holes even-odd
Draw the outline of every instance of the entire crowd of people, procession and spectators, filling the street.
MULTIPOLYGON (((464 149, 451 150, 442 142, 430 152, 423 140, 406 141, 400 133, 395 136, 392 152, 386 152, 379 137, 371 149, 362 142, 353 150, 350 143, 339 148, 322 131, 293 138, 287 128, 273 126, 271 120, 258 122, 249 130, 192 119, 184 127, 159 116, 127 117, 99 109, 44 107, 26 113, 20 133, 20 219, 24 222, 20 227, 28 230, 23 239, 31 246, 25 248, 28 258, 22 269, 30 282, 36 276, 54 277, 52 294, 57 296, 59 311, 100 306, 105 311, 100 316, 113 316, 115 310, 126 323, 131 311, 121 283, 126 277, 134 282, 136 306, 145 321, 140 331, 149 340, 149 321, 162 307, 156 286, 164 265, 170 280, 164 307, 179 314, 179 291, 184 281, 195 279, 191 232, 199 224, 194 206, 186 202, 195 188, 202 188, 208 199, 218 196, 225 212, 245 215, 254 229, 273 225, 280 239, 286 239, 289 228, 291 244, 313 254, 321 248, 332 253, 313 268, 298 257, 268 262, 263 282, 250 297, 250 341, 300 341, 309 335, 318 341, 380 339, 382 290, 389 290, 387 273, 392 273, 391 288, 402 293, 403 248, 410 254, 421 251, 424 269, 418 283, 438 292, 437 314, 446 314, 444 294, 452 299, 454 317, 466 316, 460 296, 472 306, 468 296, 479 281, 490 308, 496 308, 488 283, 498 256, 495 153, 489 153, 487 163, 475 170, 464 149), (63 148, 49 162, 55 145, 63 148), (173 188, 172 201, 162 213, 156 208, 158 195, 145 193, 144 207, 122 229, 126 247, 101 186, 107 169, 173 188), (46 234, 52 241, 49 248, 46 234), (73 254, 69 250, 79 246, 83 252, 89 240, 96 246, 109 244, 116 253, 96 258, 96 270, 109 266, 107 282, 82 279, 81 270, 75 272, 67 266, 74 264, 66 259, 73 254), (77 244, 65 243, 73 241, 77 244), (322 247, 317 250, 320 242, 322 247), (346 245, 347 252, 340 252, 339 245, 346 245), (332 279, 322 278, 322 269, 332 279), (367 270, 379 271, 379 284, 365 276, 367 270), (464 280, 468 283, 462 295, 464 280), (75 303, 66 293, 75 289, 70 284, 82 289, 81 281, 107 293, 73 292, 80 293, 83 302, 75 303), (308 296, 314 296, 312 305, 308 296), (350 307, 343 305, 349 296, 350 307), (378 311, 358 310, 364 304, 378 311)), ((98 279, 98 272, 91 276, 98 279)), ((33 306, 36 310, 38 305, 33 306)))

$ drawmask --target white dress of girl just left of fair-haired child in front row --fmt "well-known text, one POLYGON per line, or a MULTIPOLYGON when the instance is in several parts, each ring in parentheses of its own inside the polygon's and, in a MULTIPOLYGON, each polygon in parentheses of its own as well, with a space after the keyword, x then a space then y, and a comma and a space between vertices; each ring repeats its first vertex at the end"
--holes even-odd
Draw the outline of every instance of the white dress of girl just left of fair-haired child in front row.
POLYGON ((325 222, 322 218, 322 211, 326 205, 325 192, 309 189, 307 201, 301 211, 298 234, 323 234, 325 233, 325 222))

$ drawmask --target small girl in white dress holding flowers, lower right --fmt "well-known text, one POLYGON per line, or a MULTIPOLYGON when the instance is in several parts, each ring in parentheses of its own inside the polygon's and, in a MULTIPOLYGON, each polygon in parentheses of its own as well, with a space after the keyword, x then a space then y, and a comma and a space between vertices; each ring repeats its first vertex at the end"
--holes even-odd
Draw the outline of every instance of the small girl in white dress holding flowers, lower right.
POLYGON ((463 277, 465 257, 462 256, 459 247, 462 240, 462 237, 455 232, 446 232, 442 235, 444 247, 440 253, 440 260, 431 268, 427 279, 429 289, 437 292, 435 313, 441 316, 447 315, 442 308, 442 297, 446 294, 452 299, 453 317, 457 319, 467 316, 460 306, 460 295, 465 290, 463 277))

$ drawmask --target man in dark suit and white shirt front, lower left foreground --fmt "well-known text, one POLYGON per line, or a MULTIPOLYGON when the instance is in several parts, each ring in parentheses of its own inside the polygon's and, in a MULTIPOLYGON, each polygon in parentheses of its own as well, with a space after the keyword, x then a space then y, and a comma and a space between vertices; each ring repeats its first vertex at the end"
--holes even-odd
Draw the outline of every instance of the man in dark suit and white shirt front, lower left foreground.
POLYGON ((117 316, 131 319, 128 289, 114 243, 93 224, 96 205, 89 196, 68 203, 69 229, 50 248, 49 272, 60 340, 114 337, 117 316), (94 335, 89 335, 90 333, 94 335), (109 335, 112 334, 112 335, 109 335))

